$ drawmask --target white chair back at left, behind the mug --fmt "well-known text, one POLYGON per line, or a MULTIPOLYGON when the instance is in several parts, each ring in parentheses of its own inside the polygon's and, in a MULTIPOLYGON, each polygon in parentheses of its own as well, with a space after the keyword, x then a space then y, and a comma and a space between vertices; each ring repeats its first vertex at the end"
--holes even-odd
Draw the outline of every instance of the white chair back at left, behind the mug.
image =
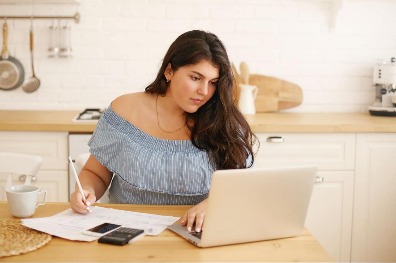
MULTIPOLYGON (((25 175, 25 185, 30 185, 41 168, 41 156, 15 152, 0 152, 0 173, 8 173, 6 188, 12 184, 13 173, 25 175)), ((6 195, 6 192, 4 192, 6 195)))

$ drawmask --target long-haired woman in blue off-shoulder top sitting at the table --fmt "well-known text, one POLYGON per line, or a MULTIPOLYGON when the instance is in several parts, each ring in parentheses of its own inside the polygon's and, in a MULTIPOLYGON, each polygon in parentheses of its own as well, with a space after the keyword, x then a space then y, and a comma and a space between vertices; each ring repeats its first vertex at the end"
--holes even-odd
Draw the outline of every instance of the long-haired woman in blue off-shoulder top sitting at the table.
POLYGON ((234 76, 223 43, 192 30, 169 47, 145 91, 116 98, 88 142, 71 208, 89 205, 109 187, 112 203, 194 204, 182 225, 200 232, 211 175, 253 166, 249 125, 232 99, 234 76), (114 178, 112 175, 114 173, 114 178))

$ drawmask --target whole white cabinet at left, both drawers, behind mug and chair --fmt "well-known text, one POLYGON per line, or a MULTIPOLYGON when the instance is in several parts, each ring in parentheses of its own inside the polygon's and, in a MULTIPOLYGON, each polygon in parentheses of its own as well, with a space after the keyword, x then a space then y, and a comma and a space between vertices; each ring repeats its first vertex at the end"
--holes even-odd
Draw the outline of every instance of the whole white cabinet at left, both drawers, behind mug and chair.
MULTIPOLYGON (((69 202, 67 136, 67 132, 0 131, 0 151, 36 154, 43 158, 32 185, 47 190, 48 202, 69 202)), ((0 200, 5 200, 7 176, 0 173, 0 200)), ((13 185, 23 184, 19 177, 13 175, 13 185)))

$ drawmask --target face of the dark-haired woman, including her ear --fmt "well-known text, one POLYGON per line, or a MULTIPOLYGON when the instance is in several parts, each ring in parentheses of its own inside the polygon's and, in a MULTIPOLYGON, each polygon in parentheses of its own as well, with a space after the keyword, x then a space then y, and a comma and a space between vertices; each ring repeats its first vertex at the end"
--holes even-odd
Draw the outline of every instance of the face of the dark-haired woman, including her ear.
MULTIPOLYGON (((170 63, 168 65, 170 67, 170 63)), ((167 69, 168 71, 168 69, 167 69)), ((208 61, 180 67, 165 76, 169 79, 168 91, 181 109, 196 112, 215 93, 219 80, 219 68, 208 61)))

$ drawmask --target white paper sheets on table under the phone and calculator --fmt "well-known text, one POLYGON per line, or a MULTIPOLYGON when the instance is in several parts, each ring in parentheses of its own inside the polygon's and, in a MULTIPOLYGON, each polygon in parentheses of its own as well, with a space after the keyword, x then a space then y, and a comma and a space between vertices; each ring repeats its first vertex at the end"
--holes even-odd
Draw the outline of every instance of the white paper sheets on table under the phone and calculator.
POLYGON ((69 240, 93 241, 95 236, 87 236, 82 231, 102 223, 113 223, 126 227, 149 230, 148 235, 156 236, 172 225, 180 217, 130 212, 100 206, 90 206, 91 213, 75 213, 71 208, 50 217, 21 219, 21 224, 54 236, 69 240))

